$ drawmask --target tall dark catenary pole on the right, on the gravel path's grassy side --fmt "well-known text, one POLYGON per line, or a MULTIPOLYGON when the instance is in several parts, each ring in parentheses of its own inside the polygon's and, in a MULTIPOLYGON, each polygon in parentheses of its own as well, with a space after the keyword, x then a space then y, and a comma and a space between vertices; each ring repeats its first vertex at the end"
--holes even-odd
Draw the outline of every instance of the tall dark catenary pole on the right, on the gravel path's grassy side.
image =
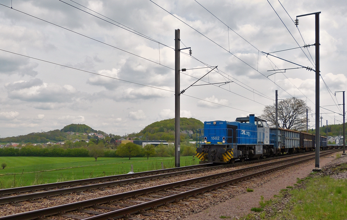
POLYGON ((307 16, 307 15, 315 15, 315 32, 316 32, 316 42, 315 42, 315 46, 316 46, 316 136, 315 136, 315 168, 312 171, 321 171, 322 169, 319 168, 319 107, 320 107, 320 103, 319 103, 319 76, 320 76, 320 66, 319 66, 319 14, 321 14, 321 12, 314 12, 314 13, 310 13, 310 14, 305 14, 305 15, 298 15, 296 16, 295 19, 295 25, 298 26, 299 24, 299 20, 298 17, 303 17, 303 16, 307 16))

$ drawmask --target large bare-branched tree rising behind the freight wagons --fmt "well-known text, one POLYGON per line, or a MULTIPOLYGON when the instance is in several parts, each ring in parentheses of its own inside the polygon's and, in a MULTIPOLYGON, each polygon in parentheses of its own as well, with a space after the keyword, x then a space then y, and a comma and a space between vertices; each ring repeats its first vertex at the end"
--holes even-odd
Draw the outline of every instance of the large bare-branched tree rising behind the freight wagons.
MULTIPOLYGON (((306 130, 306 103, 296 97, 278 102, 278 124, 281 128, 306 130)), ((276 104, 266 105, 261 118, 268 121, 270 126, 276 126, 276 104)))

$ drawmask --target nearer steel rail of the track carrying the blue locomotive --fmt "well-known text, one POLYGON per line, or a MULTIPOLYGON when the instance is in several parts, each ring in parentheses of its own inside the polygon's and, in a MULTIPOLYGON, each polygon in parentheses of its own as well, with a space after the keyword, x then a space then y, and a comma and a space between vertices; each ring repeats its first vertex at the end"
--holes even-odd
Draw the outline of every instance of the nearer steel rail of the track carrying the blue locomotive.
MULTIPOLYGON (((303 155, 301 157, 305 157, 307 155, 310 155, 310 154, 306 154, 306 155, 303 155)), ((299 158, 299 157, 295 157, 294 159, 297 159, 297 158, 299 158)), ((290 158, 287 160, 291 160, 291 159, 293 159, 293 158, 290 158)), ((253 162, 253 161, 250 161, 250 162, 253 162)), ((281 161, 275 161, 274 163, 276 163, 276 162, 281 162, 281 161)), ((242 164, 244 164, 244 163, 242 163, 242 164)), ((85 192, 88 190, 107 188, 107 187, 113 187, 113 186, 118 186, 118 185, 130 184, 130 183, 138 183, 138 182, 148 181, 148 180, 153 180, 153 179, 160 179, 160 178, 165 178, 165 177, 190 174, 190 173, 194 173, 194 172, 224 168, 224 167, 228 167, 228 166, 232 166, 232 165, 234 165, 234 164, 227 164, 227 165, 220 165, 220 166, 213 166, 213 167, 203 167, 203 168, 197 168, 197 169, 192 169, 192 170, 182 170, 182 171, 178 171, 178 172, 170 172, 170 173, 157 174, 157 175, 152 175, 152 176, 137 177, 137 178, 132 178, 132 179, 123 179, 123 180, 110 181, 110 182, 105 182, 105 183, 83 185, 83 186, 69 187, 69 188, 63 188, 63 189, 55 189, 55 190, 43 191, 43 192, 37 192, 37 193, 2 197, 2 198, 0 198, 0 205, 8 204, 8 203, 23 202, 23 201, 28 201, 28 200, 35 200, 35 199, 40 199, 40 198, 45 198, 45 197, 65 195, 65 194, 70 194, 70 193, 85 192)))

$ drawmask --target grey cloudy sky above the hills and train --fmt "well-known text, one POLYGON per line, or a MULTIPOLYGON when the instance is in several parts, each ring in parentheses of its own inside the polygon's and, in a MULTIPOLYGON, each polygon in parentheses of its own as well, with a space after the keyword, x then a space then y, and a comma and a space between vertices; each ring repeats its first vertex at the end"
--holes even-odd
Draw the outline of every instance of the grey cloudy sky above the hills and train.
MULTIPOLYGON (((275 90, 280 99, 307 101, 314 113, 314 72, 292 69, 266 77, 274 73, 268 70, 298 66, 261 52, 314 44, 314 15, 301 17, 299 29, 292 19, 316 11, 322 12, 320 66, 329 89, 321 80, 321 106, 341 104, 342 93, 333 93, 347 87, 346 2, 269 2, 12 0, 11 9, 11 0, 3 0, 0 135, 61 129, 71 123, 124 135, 173 118, 178 28, 181 48, 193 51, 193 57, 182 51, 181 68, 218 66, 198 84, 233 81, 190 87, 181 95, 181 117, 234 121, 249 113, 260 115, 265 105, 274 103, 275 90)), ((315 68, 314 46, 273 54, 315 68)), ((181 90, 210 70, 182 72, 181 90)), ((339 107, 323 108, 341 113, 339 107)), ((321 112, 323 124, 334 124, 334 119, 341 123, 337 120, 342 116, 321 112)))

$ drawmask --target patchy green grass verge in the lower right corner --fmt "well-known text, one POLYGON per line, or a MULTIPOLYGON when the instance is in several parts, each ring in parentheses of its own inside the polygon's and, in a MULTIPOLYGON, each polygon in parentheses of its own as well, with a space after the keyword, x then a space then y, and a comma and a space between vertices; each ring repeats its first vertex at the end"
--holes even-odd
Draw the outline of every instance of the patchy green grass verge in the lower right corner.
POLYGON ((240 219, 347 220, 346 179, 317 175, 299 179, 298 183, 303 184, 287 187, 271 200, 264 201, 262 197, 261 208, 252 208, 253 213, 240 219))

